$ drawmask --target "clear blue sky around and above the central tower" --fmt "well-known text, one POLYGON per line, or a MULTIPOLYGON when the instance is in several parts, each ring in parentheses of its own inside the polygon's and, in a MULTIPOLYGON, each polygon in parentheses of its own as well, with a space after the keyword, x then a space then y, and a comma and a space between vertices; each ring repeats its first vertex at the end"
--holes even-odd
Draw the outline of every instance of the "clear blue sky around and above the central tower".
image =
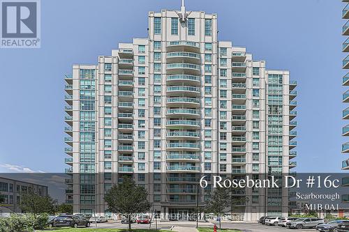
MULTIPOLYGON (((180 0, 42 0, 41 48, 0 49, 0 172, 64 171, 64 74, 118 42, 147 37, 147 14, 180 0)), ((341 1, 186 0, 218 13, 218 39, 244 46, 298 82, 299 172, 341 169, 341 1), (212 5, 214 3, 214 5, 212 5)))

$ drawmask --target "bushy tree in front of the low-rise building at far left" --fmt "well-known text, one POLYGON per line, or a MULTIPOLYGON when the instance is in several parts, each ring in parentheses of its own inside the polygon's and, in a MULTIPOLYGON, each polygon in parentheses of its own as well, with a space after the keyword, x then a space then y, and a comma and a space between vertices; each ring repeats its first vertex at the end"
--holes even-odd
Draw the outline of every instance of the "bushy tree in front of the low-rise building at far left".
POLYGON ((36 192, 23 192, 21 194, 20 209, 23 212, 34 214, 42 212, 54 214, 56 211, 56 201, 51 196, 40 196, 36 192))

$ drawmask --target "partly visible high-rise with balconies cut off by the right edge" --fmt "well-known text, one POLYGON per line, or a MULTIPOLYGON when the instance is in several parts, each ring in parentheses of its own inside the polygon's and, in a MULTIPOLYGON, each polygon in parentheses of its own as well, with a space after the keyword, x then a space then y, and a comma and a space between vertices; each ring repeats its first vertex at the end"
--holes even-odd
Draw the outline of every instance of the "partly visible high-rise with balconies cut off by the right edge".
MULTIPOLYGON (((342 0, 343 2, 347 2, 346 6, 343 8, 342 18, 349 20, 349 0, 342 0)), ((343 36, 349 36, 349 21, 344 24, 342 29, 343 36)), ((349 52, 349 38, 343 42, 343 52, 349 52)), ((349 69, 349 55, 343 59, 343 69, 349 69)), ((349 72, 343 77, 343 86, 349 86, 349 72)), ((349 102, 349 91, 343 93, 343 102, 349 102)), ((343 119, 349 119, 349 107, 343 110, 343 119)), ((349 136, 349 125, 345 125, 342 131, 343 137, 349 136)), ((342 153, 344 155, 348 155, 349 153, 349 142, 346 142, 342 145, 342 153)), ((349 158, 342 161, 342 169, 349 170, 349 158)), ((349 185, 349 177, 342 179, 342 185, 349 185)), ((349 203, 349 194, 342 195, 342 202, 349 203)))

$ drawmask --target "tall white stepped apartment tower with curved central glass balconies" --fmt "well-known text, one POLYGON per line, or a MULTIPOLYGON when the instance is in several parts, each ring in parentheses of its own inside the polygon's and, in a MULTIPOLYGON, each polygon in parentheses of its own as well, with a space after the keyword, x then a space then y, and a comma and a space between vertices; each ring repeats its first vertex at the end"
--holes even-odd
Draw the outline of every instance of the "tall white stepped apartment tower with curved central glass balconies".
MULTIPOLYGON (((66 173, 79 173, 66 180, 67 201, 75 212, 110 215, 103 194, 130 176, 149 192, 152 210, 187 219, 211 190, 198 189, 198 176, 258 178, 296 166, 297 84, 288 71, 267 70, 246 48, 219 41, 216 14, 149 12, 148 31, 66 76, 66 173)), ((287 190, 234 197, 246 221, 288 211, 287 190)))

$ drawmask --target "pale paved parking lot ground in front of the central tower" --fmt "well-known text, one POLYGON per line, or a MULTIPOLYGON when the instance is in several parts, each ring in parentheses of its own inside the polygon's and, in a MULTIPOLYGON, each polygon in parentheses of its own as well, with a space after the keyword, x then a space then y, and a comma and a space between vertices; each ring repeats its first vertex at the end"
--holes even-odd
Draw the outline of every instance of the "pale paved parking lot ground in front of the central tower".
MULTIPOLYGON (((288 229, 281 226, 266 226, 259 223, 248 223, 248 222, 222 222, 222 229, 239 229, 246 232, 288 232, 288 231, 313 231, 315 229, 288 229)), ((171 229, 174 226, 173 230, 176 230, 176 227, 195 227, 196 222, 158 222, 158 229, 171 229)), ((212 228, 214 224, 211 222, 199 222, 200 227, 209 227, 212 228)), ((128 224, 121 224, 120 222, 107 222, 107 223, 98 223, 97 228, 105 229, 127 229, 128 224)), ((155 222, 151 223, 151 229, 155 229, 155 222)), ((89 229, 96 228, 95 224, 91 224, 89 229)), ((132 224, 133 229, 149 229, 149 224, 132 224)))

